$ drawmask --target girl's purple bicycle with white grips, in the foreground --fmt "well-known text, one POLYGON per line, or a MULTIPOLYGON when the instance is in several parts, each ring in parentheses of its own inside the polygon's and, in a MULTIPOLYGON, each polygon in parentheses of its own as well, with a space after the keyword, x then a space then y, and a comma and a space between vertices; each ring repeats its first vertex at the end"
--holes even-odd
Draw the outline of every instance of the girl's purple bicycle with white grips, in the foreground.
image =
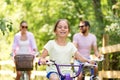
MULTIPOLYGON (((50 61, 47 61, 46 63, 48 66, 49 65, 55 65, 56 66, 56 69, 57 69, 57 72, 59 74, 59 76, 62 78, 61 80, 75 80, 76 77, 79 76, 79 74, 84 70, 83 68, 84 67, 89 67, 89 68, 92 68, 96 65, 94 64, 90 64, 90 63, 81 63, 79 65, 74 65, 74 64, 65 64, 65 65, 61 65, 61 64, 57 64, 54 60, 50 60, 50 61), (73 72, 72 76, 70 73, 66 73, 66 74, 63 74, 60 70, 60 67, 77 67, 78 68, 78 71, 77 72, 73 72)), ((38 62, 38 65, 41 65, 40 61, 38 62)), ((84 79, 85 80, 85 76, 84 76, 84 79)), ((91 76, 90 80, 94 80, 94 78, 91 76)))

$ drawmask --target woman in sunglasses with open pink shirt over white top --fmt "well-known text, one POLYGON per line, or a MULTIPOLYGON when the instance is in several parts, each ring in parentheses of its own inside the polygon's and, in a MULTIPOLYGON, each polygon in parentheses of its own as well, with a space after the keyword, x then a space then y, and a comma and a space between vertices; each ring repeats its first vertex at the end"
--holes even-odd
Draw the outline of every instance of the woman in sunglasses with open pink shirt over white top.
MULTIPOLYGON (((36 42, 31 32, 27 31, 28 25, 26 21, 20 23, 20 31, 15 34, 12 51, 13 58, 16 54, 32 54, 37 51, 36 42)), ((31 71, 28 71, 29 80, 31 71)), ((17 71, 16 80, 20 80, 21 71, 17 71)))

